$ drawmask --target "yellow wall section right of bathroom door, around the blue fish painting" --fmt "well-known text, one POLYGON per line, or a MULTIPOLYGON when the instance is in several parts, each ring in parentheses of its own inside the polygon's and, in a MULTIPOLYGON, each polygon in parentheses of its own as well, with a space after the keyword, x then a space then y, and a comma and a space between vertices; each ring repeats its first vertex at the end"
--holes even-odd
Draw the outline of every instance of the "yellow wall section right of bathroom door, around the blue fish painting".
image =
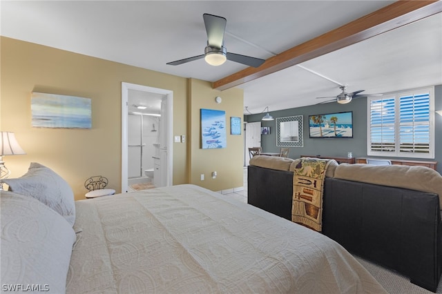
POLYGON ((243 150, 244 138, 241 135, 230 135, 230 117, 242 117, 242 89, 232 88, 220 92, 213 90, 211 83, 191 79, 189 81, 191 92, 191 105, 189 106, 191 129, 190 183, 211 190, 223 190, 241 187, 243 182, 243 150), (215 97, 220 96, 222 102, 217 104, 215 97), (227 148, 202 149, 200 148, 200 108, 225 110, 227 148), (217 172, 217 177, 212 179, 212 172, 217 172), (204 174, 204 181, 201 181, 204 174))

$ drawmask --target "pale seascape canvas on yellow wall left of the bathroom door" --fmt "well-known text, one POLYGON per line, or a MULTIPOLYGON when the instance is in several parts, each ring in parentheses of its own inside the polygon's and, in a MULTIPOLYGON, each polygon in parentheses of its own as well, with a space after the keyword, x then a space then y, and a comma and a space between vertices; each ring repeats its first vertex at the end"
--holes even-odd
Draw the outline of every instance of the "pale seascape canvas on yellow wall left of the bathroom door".
POLYGON ((91 99, 32 92, 32 127, 91 128, 91 99))

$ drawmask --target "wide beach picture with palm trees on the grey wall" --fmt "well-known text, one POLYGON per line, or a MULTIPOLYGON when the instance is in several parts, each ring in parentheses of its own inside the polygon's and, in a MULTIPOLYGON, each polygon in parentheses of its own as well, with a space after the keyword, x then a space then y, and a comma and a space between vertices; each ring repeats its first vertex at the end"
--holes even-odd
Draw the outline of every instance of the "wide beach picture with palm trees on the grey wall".
POLYGON ((310 138, 352 138, 353 112, 309 115, 310 138))

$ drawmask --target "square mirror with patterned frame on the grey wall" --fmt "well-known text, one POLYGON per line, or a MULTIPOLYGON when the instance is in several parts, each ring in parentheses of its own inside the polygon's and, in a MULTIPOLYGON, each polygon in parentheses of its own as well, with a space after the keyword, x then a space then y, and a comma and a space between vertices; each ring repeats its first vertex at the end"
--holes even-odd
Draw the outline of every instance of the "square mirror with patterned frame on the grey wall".
POLYGON ((304 146, 302 115, 276 118, 276 146, 304 146))

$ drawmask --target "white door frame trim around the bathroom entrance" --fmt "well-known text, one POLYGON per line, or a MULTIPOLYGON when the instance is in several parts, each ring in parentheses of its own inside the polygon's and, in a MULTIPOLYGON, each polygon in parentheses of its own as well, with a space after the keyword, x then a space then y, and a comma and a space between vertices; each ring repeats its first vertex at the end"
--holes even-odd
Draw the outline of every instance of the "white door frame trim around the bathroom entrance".
MULTIPOLYGON (((122 82, 122 193, 128 191, 128 97, 129 90, 153 92, 166 96, 167 103, 167 159, 166 159, 166 186, 173 184, 173 91, 152 88, 137 84, 122 82)), ((162 167, 164 168, 164 167, 162 167)))

